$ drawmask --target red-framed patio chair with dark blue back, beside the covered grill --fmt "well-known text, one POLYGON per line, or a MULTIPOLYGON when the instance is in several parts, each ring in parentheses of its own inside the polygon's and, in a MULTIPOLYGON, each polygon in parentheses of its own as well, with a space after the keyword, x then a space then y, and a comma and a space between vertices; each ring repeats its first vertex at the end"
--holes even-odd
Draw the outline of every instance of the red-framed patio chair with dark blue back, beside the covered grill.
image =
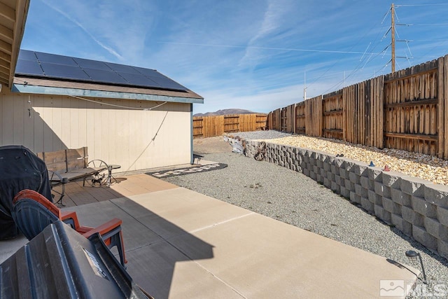
POLYGON ((118 218, 113 218, 97 228, 82 226, 79 224, 76 212, 61 211, 55 204, 34 190, 22 190, 15 195, 11 214, 20 231, 29 240, 36 237, 48 225, 58 220, 69 224, 71 228, 86 238, 99 232, 109 249, 117 246, 123 267, 127 263, 121 231, 121 223, 123 221, 118 218))

